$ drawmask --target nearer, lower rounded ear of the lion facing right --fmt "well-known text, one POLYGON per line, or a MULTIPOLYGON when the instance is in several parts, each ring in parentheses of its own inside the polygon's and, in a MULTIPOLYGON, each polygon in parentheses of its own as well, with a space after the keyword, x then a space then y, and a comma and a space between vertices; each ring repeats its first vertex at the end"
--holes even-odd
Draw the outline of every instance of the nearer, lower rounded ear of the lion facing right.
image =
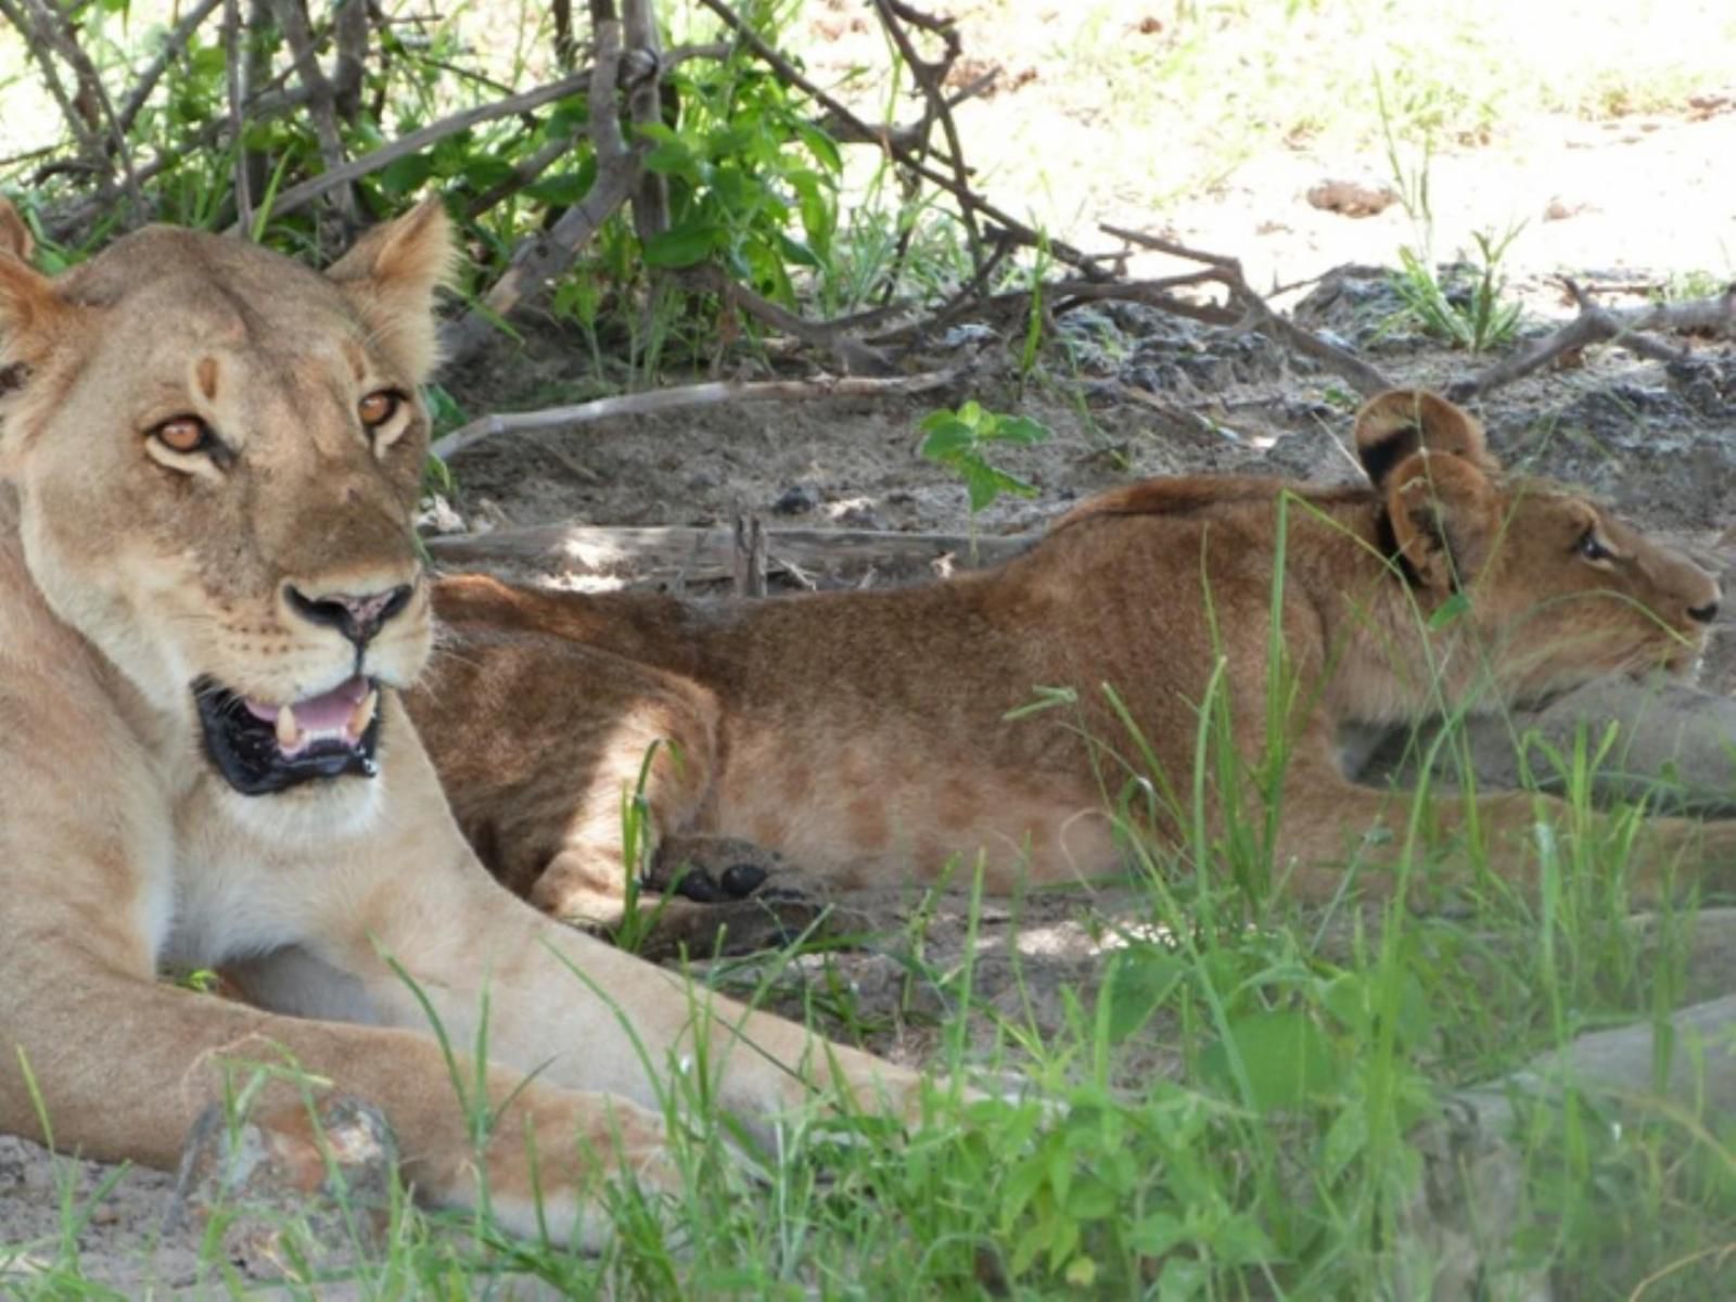
POLYGON ((1417 451, 1387 476, 1392 540, 1417 576, 1457 592, 1477 576, 1500 542, 1502 500, 1469 458, 1417 451))

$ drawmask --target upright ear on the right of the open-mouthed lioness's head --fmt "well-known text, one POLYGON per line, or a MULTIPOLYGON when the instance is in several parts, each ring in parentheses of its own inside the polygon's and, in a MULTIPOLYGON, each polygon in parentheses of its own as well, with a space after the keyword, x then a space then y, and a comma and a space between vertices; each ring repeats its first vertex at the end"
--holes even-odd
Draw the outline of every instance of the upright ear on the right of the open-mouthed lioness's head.
POLYGON ((368 231, 326 276, 354 304, 375 347, 417 382, 439 359, 434 290, 444 285, 457 250, 439 198, 368 231))

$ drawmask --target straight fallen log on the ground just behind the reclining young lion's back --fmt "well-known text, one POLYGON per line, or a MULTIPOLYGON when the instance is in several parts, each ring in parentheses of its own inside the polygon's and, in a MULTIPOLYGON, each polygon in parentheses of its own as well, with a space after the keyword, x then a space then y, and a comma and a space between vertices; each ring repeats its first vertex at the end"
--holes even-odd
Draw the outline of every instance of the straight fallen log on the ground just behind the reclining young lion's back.
MULTIPOLYGON (((991 535, 972 540, 962 533, 887 533, 882 529, 766 529, 767 569, 837 571, 865 564, 920 569, 950 564, 983 568, 1019 556, 1036 535, 991 535)), ((533 524, 460 533, 425 540, 429 554, 446 566, 533 566, 556 575, 646 580, 656 571, 687 582, 731 580, 743 562, 736 529, 597 528, 587 524, 533 524)), ((745 543, 755 547, 752 538, 745 543)), ((750 561, 748 566, 759 566, 750 561)), ((743 578, 743 583, 753 580, 743 578)))

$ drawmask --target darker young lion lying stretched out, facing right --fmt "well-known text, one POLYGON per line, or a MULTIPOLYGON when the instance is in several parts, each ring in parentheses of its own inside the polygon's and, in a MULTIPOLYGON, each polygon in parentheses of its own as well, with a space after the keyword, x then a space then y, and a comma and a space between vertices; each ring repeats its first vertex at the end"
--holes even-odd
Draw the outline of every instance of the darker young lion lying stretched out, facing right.
MULTIPOLYGON (((684 851, 701 838, 701 861, 705 837, 743 838, 859 885, 986 851, 988 889, 1007 891, 1113 870, 1101 811, 1130 773, 1170 783, 1146 821, 1179 840, 1208 698, 1229 701, 1248 766, 1286 738, 1274 863, 1290 891, 1330 896, 1347 863, 1392 863, 1406 840, 1404 804, 1340 773, 1342 726, 1684 670, 1719 602, 1708 575, 1601 507, 1503 477, 1441 398, 1373 399, 1356 443, 1368 486, 1141 483, 998 569, 922 589, 701 608, 444 578, 446 641, 410 712, 484 861, 561 917, 620 911, 621 790, 656 738, 677 746, 651 766, 651 811, 684 851), (1040 686, 1078 708, 1010 717, 1040 686), (1396 833, 1371 837, 1384 821, 1396 833)), ((1240 797, 1253 818, 1252 783, 1240 797)), ((1486 835, 1509 877, 1540 814, 1561 812, 1524 793, 1436 809, 1486 835)), ((1641 849, 1642 891, 1684 852, 1736 880, 1736 825, 1658 819, 1641 849)))

